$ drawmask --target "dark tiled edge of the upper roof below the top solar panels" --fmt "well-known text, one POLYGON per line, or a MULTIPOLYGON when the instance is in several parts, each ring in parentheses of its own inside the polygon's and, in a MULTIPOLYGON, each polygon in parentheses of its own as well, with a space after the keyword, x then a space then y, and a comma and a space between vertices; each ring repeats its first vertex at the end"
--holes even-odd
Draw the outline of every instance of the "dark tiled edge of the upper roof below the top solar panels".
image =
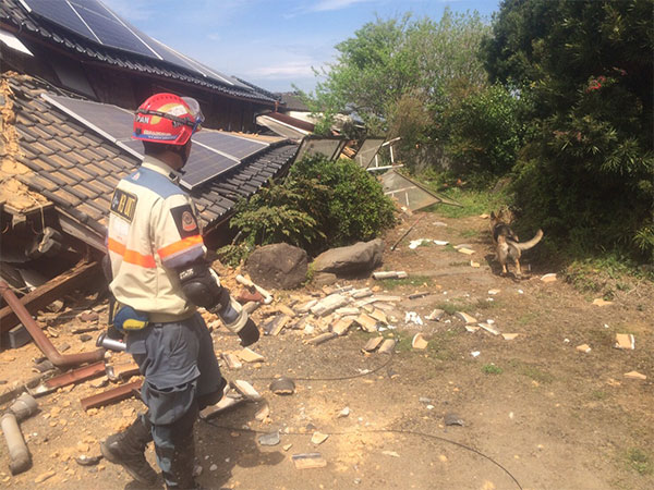
MULTIPOLYGON (((251 89, 221 84, 216 79, 198 76, 196 73, 175 66, 164 60, 153 60, 140 54, 130 53, 120 49, 97 45, 82 36, 77 36, 56 24, 41 21, 27 13, 17 0, 0 1, 0 23, 13 26, 19 30, 16 36, 24 40, 25 37, 35 37, 38 41, 52 44, 59 49, 64 49, 75 57, 87 58, 92 61, 107 63, 120 69, 132 70, 143 74, 164 76, 206 89, 226 94, 228 96, 245 98, 266 103, 275 102, 274 94, 250 83, 251 89)), ((243 81, 241 81, 243 82, 243 81)))

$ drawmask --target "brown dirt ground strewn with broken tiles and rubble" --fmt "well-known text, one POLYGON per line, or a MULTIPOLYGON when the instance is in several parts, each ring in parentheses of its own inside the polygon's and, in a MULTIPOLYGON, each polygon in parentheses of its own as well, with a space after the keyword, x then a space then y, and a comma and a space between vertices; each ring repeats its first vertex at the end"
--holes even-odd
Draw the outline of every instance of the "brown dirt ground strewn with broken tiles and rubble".
MULTIPOLYGON (((557 272, 546 265, 532 267, 521 280, 500 277, 488 220, 481 217, 455 220, 428 213, 391 252, 390 245, 421 216, 385 236, 382 269, 404 270, 408 279, 339 282, 401 296, 387 313, 395 328, 383 332, 399 341, 395 355, 364 355, 361 347, 373 334, 362 331, 317 346, 306 345, 308 336, 301 330, 262 336, 253 348, 265 362, 239 370, 225 367, 223 375, 250 381, 264 400, 197 421, 198 481, 206 488, 288 490, 654 488, 652 283, 633 282, 618 290, 611 304, 597 306, 597 295, 579 293, 560 275, 543 282, 543 274, 557 272), (450 245, 409 248, 416 238, 450 245), (463 243, 474 254, 451 246, 463 243), (414 293, 427 295, 410 299, 414 293), (434 308, 446 310, 440 321, 425 319, 434 308), (405 323, 408 311, 420 315, 424 324, 405 323), (482 329, 468 332, 455 311, 480 322, 493 320, 501 333, 519 335, 505 340, 482 329), (411 347, 416 332, 428 340, 424 351, 411 347), (616 333, 633 334, 635 350, 615 348, 616 333), (578 351, 581 344, 591 351, 578 351), (625 377, 633 370, 647 379, 625 377), (294 394, 270 392, 278 376, 295 380, 294 394), (269 418, 258 421, 254 415, 265 404, 269 418), (346 407, 349 415, 339 417, 346 407), (451 414, 463 425, 446 425, 444 417, 451 414), (276 430, 278 445, 258 443, 259 436, 276 430), (311 442, 316 430, 329 436, 319 445, 311 442), (316 452, 325 467, 294 467, 292 455, 316 452)), ((292 304, 315 290, 277 291, 276 304, 292 304)), ((97 309, 101 324, 106 309, 97 309)), ((267 309, 259 308, 254 318, 261 321, 267 309)), ((66 354, 93 344, 71 333, 81 326, 74 314, 50 328, 58 335, 51 339, 56 345, 71 345, 66 354)), ((222 328, 213 335, 217 353, 239 348, 235 336, 222 328)), ((29 368, 39 355, 33 344, 1 352, 0 380, 11 381, 0 391, 15 379, 35 376, 29 368)), ((98 441, 143 409, 131 399, 84 412, 78 400, 98 392, 92 383, 39 399, 40 412, 22 422, 34 466, 11 476, 2 443, 0 487, 138 488, 110 463, 85 467, 74 461, 99 454, 98 441), (50 478, 35 482, 48 471, 53 471, 50 478)), ((154 464, 152 448, 147 457, 154 464)))

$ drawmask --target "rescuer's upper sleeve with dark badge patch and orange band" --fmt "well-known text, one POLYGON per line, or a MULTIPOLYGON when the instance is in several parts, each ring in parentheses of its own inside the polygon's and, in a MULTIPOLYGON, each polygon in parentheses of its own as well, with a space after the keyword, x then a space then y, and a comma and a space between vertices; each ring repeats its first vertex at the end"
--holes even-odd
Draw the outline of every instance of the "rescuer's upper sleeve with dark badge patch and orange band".
POLYGON ((204 258, 206 248, 190 199, 170 196, 157 203, 152 213, 155 253, 164 267, 178 269, 204 258))

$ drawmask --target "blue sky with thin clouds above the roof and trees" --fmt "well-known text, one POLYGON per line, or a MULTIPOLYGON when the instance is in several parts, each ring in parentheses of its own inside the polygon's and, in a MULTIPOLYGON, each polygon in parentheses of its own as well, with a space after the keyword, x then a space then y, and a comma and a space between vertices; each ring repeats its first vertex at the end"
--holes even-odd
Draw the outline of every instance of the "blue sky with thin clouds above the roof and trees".
POLYGON ((149 36, 228 75, 272 91, 312 90, 312 66, 378 15, 412 12, 439 20, 452 11, 491 17, 499 0, 104 0, 149 36))

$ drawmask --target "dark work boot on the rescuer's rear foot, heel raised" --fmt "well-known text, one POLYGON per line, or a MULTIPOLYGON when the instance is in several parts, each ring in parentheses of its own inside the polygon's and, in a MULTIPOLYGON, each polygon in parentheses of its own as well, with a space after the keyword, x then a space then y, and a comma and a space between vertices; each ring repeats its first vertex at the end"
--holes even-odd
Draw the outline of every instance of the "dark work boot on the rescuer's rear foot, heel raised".
POLYGON ((140 416, 123 432, 109 436, 100 443, 102 456, 110 463, 121 465, 132 478, 143 485, 158 482, 157 473, 145 460, 145 448, 153 440, 147 416, 140 416))

